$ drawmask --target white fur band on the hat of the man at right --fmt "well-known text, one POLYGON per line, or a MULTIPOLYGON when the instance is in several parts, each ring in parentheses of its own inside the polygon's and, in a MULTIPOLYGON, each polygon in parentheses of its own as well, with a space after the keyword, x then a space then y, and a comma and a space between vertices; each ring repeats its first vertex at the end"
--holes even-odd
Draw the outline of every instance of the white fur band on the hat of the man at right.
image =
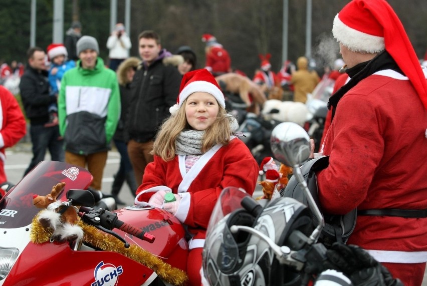
POLYGON ((352 52, 379 53, 385 49, 384 38, 357 31, 345 25, 335 16, 332 34, 337 42, 343 44, 352 52))

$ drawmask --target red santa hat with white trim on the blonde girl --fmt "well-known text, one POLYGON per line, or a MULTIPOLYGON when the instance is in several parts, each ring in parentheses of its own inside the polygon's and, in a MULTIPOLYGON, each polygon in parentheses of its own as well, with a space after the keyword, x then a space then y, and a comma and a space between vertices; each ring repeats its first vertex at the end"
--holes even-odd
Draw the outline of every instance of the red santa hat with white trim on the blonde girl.
POLYGON ((187 97, 195 92, 207 92, 211 94, 218 101, 219 105, 226 108, 224 94, 217 80, 206 69, 200 69, 188 72, 182 77, 176 104, 169 108, 169 112, 172 115, 176 114, 187 97))

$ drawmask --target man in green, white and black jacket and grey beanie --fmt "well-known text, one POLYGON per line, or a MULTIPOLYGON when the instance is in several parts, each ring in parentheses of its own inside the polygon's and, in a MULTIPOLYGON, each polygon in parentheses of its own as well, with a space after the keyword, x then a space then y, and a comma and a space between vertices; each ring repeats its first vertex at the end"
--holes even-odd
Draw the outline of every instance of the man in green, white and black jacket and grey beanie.
POLYGON ((107 152, 120 115, 116 74, 98 57, 95 38, 77 41, 79 61, 62 78, 58 99, 60 133, 65 140, 65 161, 87 168, 91 187, 101 189, 107 152))

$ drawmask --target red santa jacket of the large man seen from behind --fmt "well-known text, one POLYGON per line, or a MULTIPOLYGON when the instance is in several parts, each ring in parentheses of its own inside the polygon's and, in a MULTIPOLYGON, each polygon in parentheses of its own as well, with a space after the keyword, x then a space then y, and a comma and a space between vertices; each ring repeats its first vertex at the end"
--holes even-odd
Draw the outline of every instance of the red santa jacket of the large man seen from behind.
MULTIPOLYGON (((424 68, 427 78, 427 71, 424 68)), ((407 77, 379 71, 338 103, 318 174, 325 211, 427 209, 427 110, 407 77)), ((357 216, 348 243, 380 262, 427 261, 427 218, 357 216)))

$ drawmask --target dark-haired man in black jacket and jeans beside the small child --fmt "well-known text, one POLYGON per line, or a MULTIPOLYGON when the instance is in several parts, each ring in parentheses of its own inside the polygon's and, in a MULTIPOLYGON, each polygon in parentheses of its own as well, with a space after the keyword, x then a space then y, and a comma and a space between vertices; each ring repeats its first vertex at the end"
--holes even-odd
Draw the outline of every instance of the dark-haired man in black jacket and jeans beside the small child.
POLYGON ((55 96, 50 95, 45 51, 32 47, 27 56, 28 69, 21 78, 19 88, 25 113, 30 120, 33 159, 24 175, 45 159, 48 148, 53 161, 64 161, 63 140, 59 135, 58 125, 45 127, 49 121, 48 107, 57 100, 55 96))

